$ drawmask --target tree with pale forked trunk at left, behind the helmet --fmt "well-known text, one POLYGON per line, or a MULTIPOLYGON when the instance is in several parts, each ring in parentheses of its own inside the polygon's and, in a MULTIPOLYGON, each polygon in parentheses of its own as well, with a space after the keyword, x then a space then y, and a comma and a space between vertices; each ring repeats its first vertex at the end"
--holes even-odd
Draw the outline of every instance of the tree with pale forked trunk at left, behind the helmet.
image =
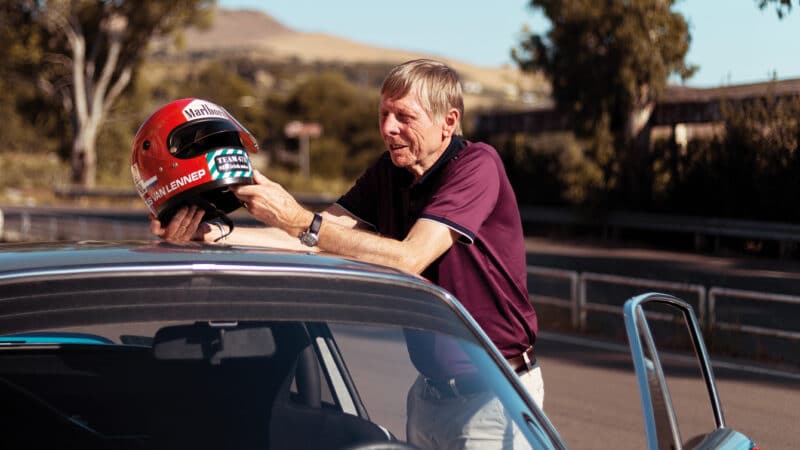
POLYGON ((7 5, 24 34, 6 32, 0 39, 23 36, 31 49, 35 44, 32 54, 38 59, 24 69, 68 117, 71 179, 90 187, 98 132, 130 85, 148 43, 187 24, 207 24, 215 1, 12 0, 7 5))

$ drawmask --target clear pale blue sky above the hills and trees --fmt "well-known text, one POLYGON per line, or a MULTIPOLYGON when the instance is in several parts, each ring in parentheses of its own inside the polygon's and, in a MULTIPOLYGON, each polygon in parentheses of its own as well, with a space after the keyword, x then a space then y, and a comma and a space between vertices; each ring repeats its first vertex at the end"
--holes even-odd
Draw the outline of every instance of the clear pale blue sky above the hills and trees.
MULTIPOLYGON (((793 2, 794 3, 794 2, 793 2)), ((379 47, 419 51, 479 66, 511 64, 527 25, 547 28, 524 0, 219 0, 257 9, 297 31, 321 32, 379 47)), ((800 78, 800 4, 779 20, 756 0, 679 0, 689 23, 686 62, 700 67, 687 86, 712 87, 800 78)))

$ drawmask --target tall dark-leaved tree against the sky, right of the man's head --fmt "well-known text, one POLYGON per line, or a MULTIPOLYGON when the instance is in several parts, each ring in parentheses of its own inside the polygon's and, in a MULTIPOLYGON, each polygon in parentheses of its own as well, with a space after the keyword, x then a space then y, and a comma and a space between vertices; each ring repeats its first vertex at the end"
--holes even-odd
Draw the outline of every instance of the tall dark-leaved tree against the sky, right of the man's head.
MULTIPOLYGON (((549 18, 546 33, 527 32, 512 57, 523 70, 541 70, 559 109, 579 137, 608 127, 628 193, 646 191, 643 133, 673 74, 685 79, 695 67, 684 57, 690 34, 674 0, 531 0, 549 18)), ((604 144, 605 146, 605 144, 604 144)), ((607 174, 611 179, 615 175, 607 174)), ((633 200, 637 202, 636 199, 633 200)), ((637 205, 629 205, 637 206, 637 205)))

